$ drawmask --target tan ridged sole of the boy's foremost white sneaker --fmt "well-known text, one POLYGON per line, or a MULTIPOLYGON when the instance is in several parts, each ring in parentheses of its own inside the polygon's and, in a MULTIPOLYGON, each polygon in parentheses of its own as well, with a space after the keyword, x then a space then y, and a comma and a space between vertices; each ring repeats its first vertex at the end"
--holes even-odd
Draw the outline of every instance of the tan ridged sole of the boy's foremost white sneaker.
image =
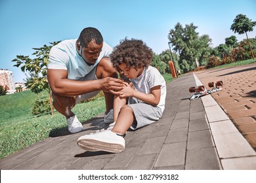
POLYGON ((101 141, 96 141, 94 139, 77 141, 77 145, 83 150, 93 151, 93 152, 106 151, 106 152, 112 152, 112 153, 119 153, 119 152, 123 152, 123 150, 125 149, 125 147, 120 144, 101 142, 101 141))

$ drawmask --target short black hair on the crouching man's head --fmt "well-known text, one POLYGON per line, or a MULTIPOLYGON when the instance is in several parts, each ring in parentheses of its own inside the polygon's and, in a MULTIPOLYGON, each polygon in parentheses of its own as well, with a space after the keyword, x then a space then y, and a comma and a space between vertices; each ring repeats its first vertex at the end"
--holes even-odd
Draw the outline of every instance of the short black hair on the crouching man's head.
POLYGON ((89 42, 91 42, 93 39, 95 40, 96 44, 102 44, 103 42, 103 37, 100 31, 94 27, 84 28, 78 37, 78 41, 83 48, 86 48, 89 42))

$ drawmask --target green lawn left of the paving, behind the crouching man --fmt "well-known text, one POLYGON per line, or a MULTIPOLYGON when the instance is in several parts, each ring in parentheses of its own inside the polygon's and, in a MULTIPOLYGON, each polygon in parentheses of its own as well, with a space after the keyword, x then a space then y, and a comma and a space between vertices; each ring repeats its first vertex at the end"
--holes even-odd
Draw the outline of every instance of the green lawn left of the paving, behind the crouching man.
MULTIPOLYGON (((47 95, 47 93, 45 93, 47 95)), ((18 152, 35 142, 49 136, 54 137, 67 132, 64 116, 58 112, 34 117, 33 101, 37 95, 30 91, 0 97, 0 159, 18 152)), ((105 110, 104 97, 75 105, 77 118, 84 122, 105 110)))

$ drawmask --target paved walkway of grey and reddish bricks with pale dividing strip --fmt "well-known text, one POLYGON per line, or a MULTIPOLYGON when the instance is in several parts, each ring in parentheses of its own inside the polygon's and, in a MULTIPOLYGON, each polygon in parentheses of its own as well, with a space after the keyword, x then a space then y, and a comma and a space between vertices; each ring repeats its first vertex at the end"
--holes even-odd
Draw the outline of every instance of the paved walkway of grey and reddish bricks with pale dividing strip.
MULTIPOLYGON (((83 122, 84 130, 81 133, 49 137, 1 159, 0 169, 256 169, 255 141, 250 138, 255 131, 244 132, 242 129, 245 126, 240 127, 255 124, 255 67, 248 65, 234 70, 223 69, 222 74, 218 74, 217 70, 200 71, 170 82, 167 84, 163 117, 137 131, 128 131, 122 153, 84 152, 77 146, 76 141, 81 135, 107 127, 103 124, 103 117, 97 116, 83 122), (241 78, 245 77, 241 84, 248 83, 243 88, 233 90, 231 87, 238 82, 232 76, 237 72, 241 78), (251 79, 246 79, 247 72, 251 79), (211 81, 219 80, 217 77, 220 75, 223 75, 223 91, 215 93, 214 99, 206 95, 189 100, 192 95, 188 92, 190 86, 198 86, 202 82, 205 84, 210 78, 211 81), (234 91, 243 93, 232 93, 234 91), (240 97, 234 98, 234 95, 240 97), (232 97, 236 103, 243 103, 243 110, 250 110, 251 113, 234 116, 231 110, 225 107, 223 110, 221 107, 228 104, 221 103, 226 99, 223 97, 227 100, 232 97), (244 122, 244 118, 250 120, 244 122)), ((251 128, 247 127, 248 130, 251 128)))

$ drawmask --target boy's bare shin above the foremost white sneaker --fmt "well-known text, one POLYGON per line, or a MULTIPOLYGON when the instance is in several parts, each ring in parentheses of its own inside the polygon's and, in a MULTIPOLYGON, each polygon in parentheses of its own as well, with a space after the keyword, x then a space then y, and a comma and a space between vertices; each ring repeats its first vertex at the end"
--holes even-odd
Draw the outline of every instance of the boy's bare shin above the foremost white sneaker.
POLYGON ((133 108, 129 107, 129 105, 124 105, 123 107, 121 107, 121 110, 116 120, 116 125, 114 125, 112 131, 114 133, 119 133, 123 135, 129 129, 129 127, 131 127, 134 120, 135 116, 133 114, 133 108))

